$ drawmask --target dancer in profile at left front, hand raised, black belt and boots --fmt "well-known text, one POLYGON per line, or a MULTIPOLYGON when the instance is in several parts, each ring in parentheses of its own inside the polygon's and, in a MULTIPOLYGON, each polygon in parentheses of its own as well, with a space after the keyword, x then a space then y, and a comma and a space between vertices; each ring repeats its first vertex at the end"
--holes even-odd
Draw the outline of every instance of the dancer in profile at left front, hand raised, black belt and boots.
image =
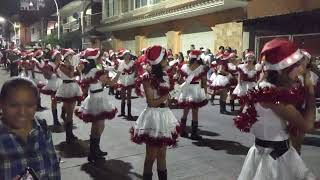
POLYGON ((104 120, 113 119, 117 113, 117 108, 110 103, 104 86, 114 85, 120 73, 111 79, 107 71, 98 69, 97 62, 102 58, 99 49, 88 48, 85 58, 87 63, 80 64, 78 69, 83 73, 81 83, 88 85, 89 94, 81 107, 76 109, 75 114, 84 122, 92 123, 88 161, 99 163, 104 161, 104 156, 108 154, 100 149, 100 137, 105 127, 104 120))

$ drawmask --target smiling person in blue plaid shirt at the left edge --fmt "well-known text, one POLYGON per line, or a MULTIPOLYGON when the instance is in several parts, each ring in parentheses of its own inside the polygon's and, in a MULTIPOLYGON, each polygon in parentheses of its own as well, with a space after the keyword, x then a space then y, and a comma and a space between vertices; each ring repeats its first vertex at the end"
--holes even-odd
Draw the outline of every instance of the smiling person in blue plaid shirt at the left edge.
POLYGON ((52 136, 44 120, 35 117, 39 92, 30 80, 13 78, 0 92, 0 179, 18 179, 27 167, 39 179, 60 180, 52 136))

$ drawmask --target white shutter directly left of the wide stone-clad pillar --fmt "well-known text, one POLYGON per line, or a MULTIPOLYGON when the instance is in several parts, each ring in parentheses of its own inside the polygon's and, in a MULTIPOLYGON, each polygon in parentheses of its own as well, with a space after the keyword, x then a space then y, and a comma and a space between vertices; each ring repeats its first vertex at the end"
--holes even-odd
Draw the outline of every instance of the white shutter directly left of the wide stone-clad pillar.
POLYGON ((196 49, 200 47, 209 48, 212 51, 214 45, 213 31, 195 32, 190 34, 181 34, 180 51, 186 56, 190 45, 194 44, 196 49))

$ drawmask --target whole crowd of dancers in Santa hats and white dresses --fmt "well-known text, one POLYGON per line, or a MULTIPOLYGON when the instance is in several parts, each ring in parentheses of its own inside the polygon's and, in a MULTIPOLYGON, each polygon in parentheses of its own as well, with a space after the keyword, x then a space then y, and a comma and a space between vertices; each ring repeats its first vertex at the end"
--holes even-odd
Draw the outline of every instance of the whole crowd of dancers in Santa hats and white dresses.
MULTIPOLYGON (((121 100, 118 116, 128 120, 134 120, 132 94, 145 97, 147 107, 130 128, 132 142, 146 144, 144 180, 152 179, 155 161, 159 179, 167 179, 166 149, 176 146, 179 136, 201 141, 199 109, 209 101, 214 104, 219 95, 220 113, 229 113, 229 99, 235 127, 255 136, 239 180, 316 179, 299 155, 304 135, 319 128, 315 122, 318 76, 310 67, 311 55, 288 40, 273 39, 259 57, 247 51, 240 61, 236 51, 224 47, 214 56, 191 49, 187 60, 157 45, 143 49, 138 58, 127 49, 103 52, 88 48, 80 53, 12 49, 7 53, 18 59, 18 76, 51 97, 56 127, 61 126, 57 103, 62 103, 60 118, 67 144, 78 139, 72 130, 73 115, 92 123, 88 161, 93 164, 104 161, 108 154, 100 149, 104 121, 118 113, 107 94, 121 100), (183 109, 180 120, 172 107, 183 109), (189 111, 191 132, 186 129, 189 111)), ((40 98, 38 107, 42 108, 40 98)))

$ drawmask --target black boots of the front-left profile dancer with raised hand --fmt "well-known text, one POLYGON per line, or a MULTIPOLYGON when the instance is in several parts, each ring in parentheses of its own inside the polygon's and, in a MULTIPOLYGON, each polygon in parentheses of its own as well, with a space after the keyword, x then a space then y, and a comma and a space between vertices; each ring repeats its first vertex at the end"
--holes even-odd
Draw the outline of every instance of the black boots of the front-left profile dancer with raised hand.
POLYGON ((103 156, 108 155, 107 152, 103 152, 100 149, 100 138, 90 137, 90 152, 88 155, 88 161, 91 163, 103 162, 105 158, 103 156))

